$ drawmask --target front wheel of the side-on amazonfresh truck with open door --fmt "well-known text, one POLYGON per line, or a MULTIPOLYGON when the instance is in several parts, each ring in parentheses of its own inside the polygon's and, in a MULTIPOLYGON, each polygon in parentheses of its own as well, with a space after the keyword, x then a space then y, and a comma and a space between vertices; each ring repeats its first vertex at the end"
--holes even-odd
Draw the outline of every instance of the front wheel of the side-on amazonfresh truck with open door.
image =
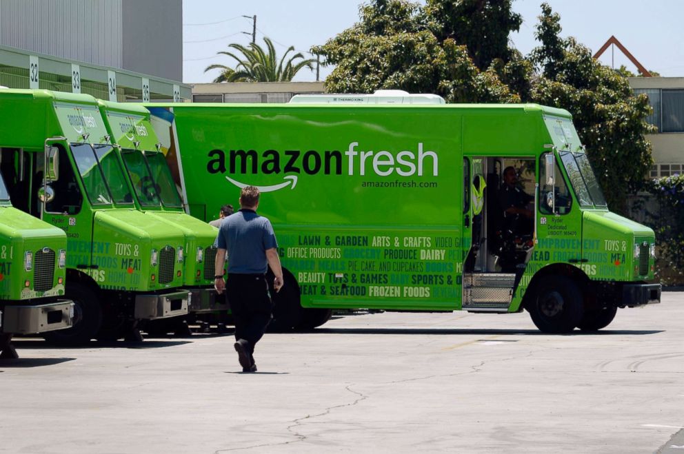
POLYGON ((532 322, 543 333, 570 333, 584 313, 582 293, 565 276, 550 276, 539 286, 530 305, 532 322))

